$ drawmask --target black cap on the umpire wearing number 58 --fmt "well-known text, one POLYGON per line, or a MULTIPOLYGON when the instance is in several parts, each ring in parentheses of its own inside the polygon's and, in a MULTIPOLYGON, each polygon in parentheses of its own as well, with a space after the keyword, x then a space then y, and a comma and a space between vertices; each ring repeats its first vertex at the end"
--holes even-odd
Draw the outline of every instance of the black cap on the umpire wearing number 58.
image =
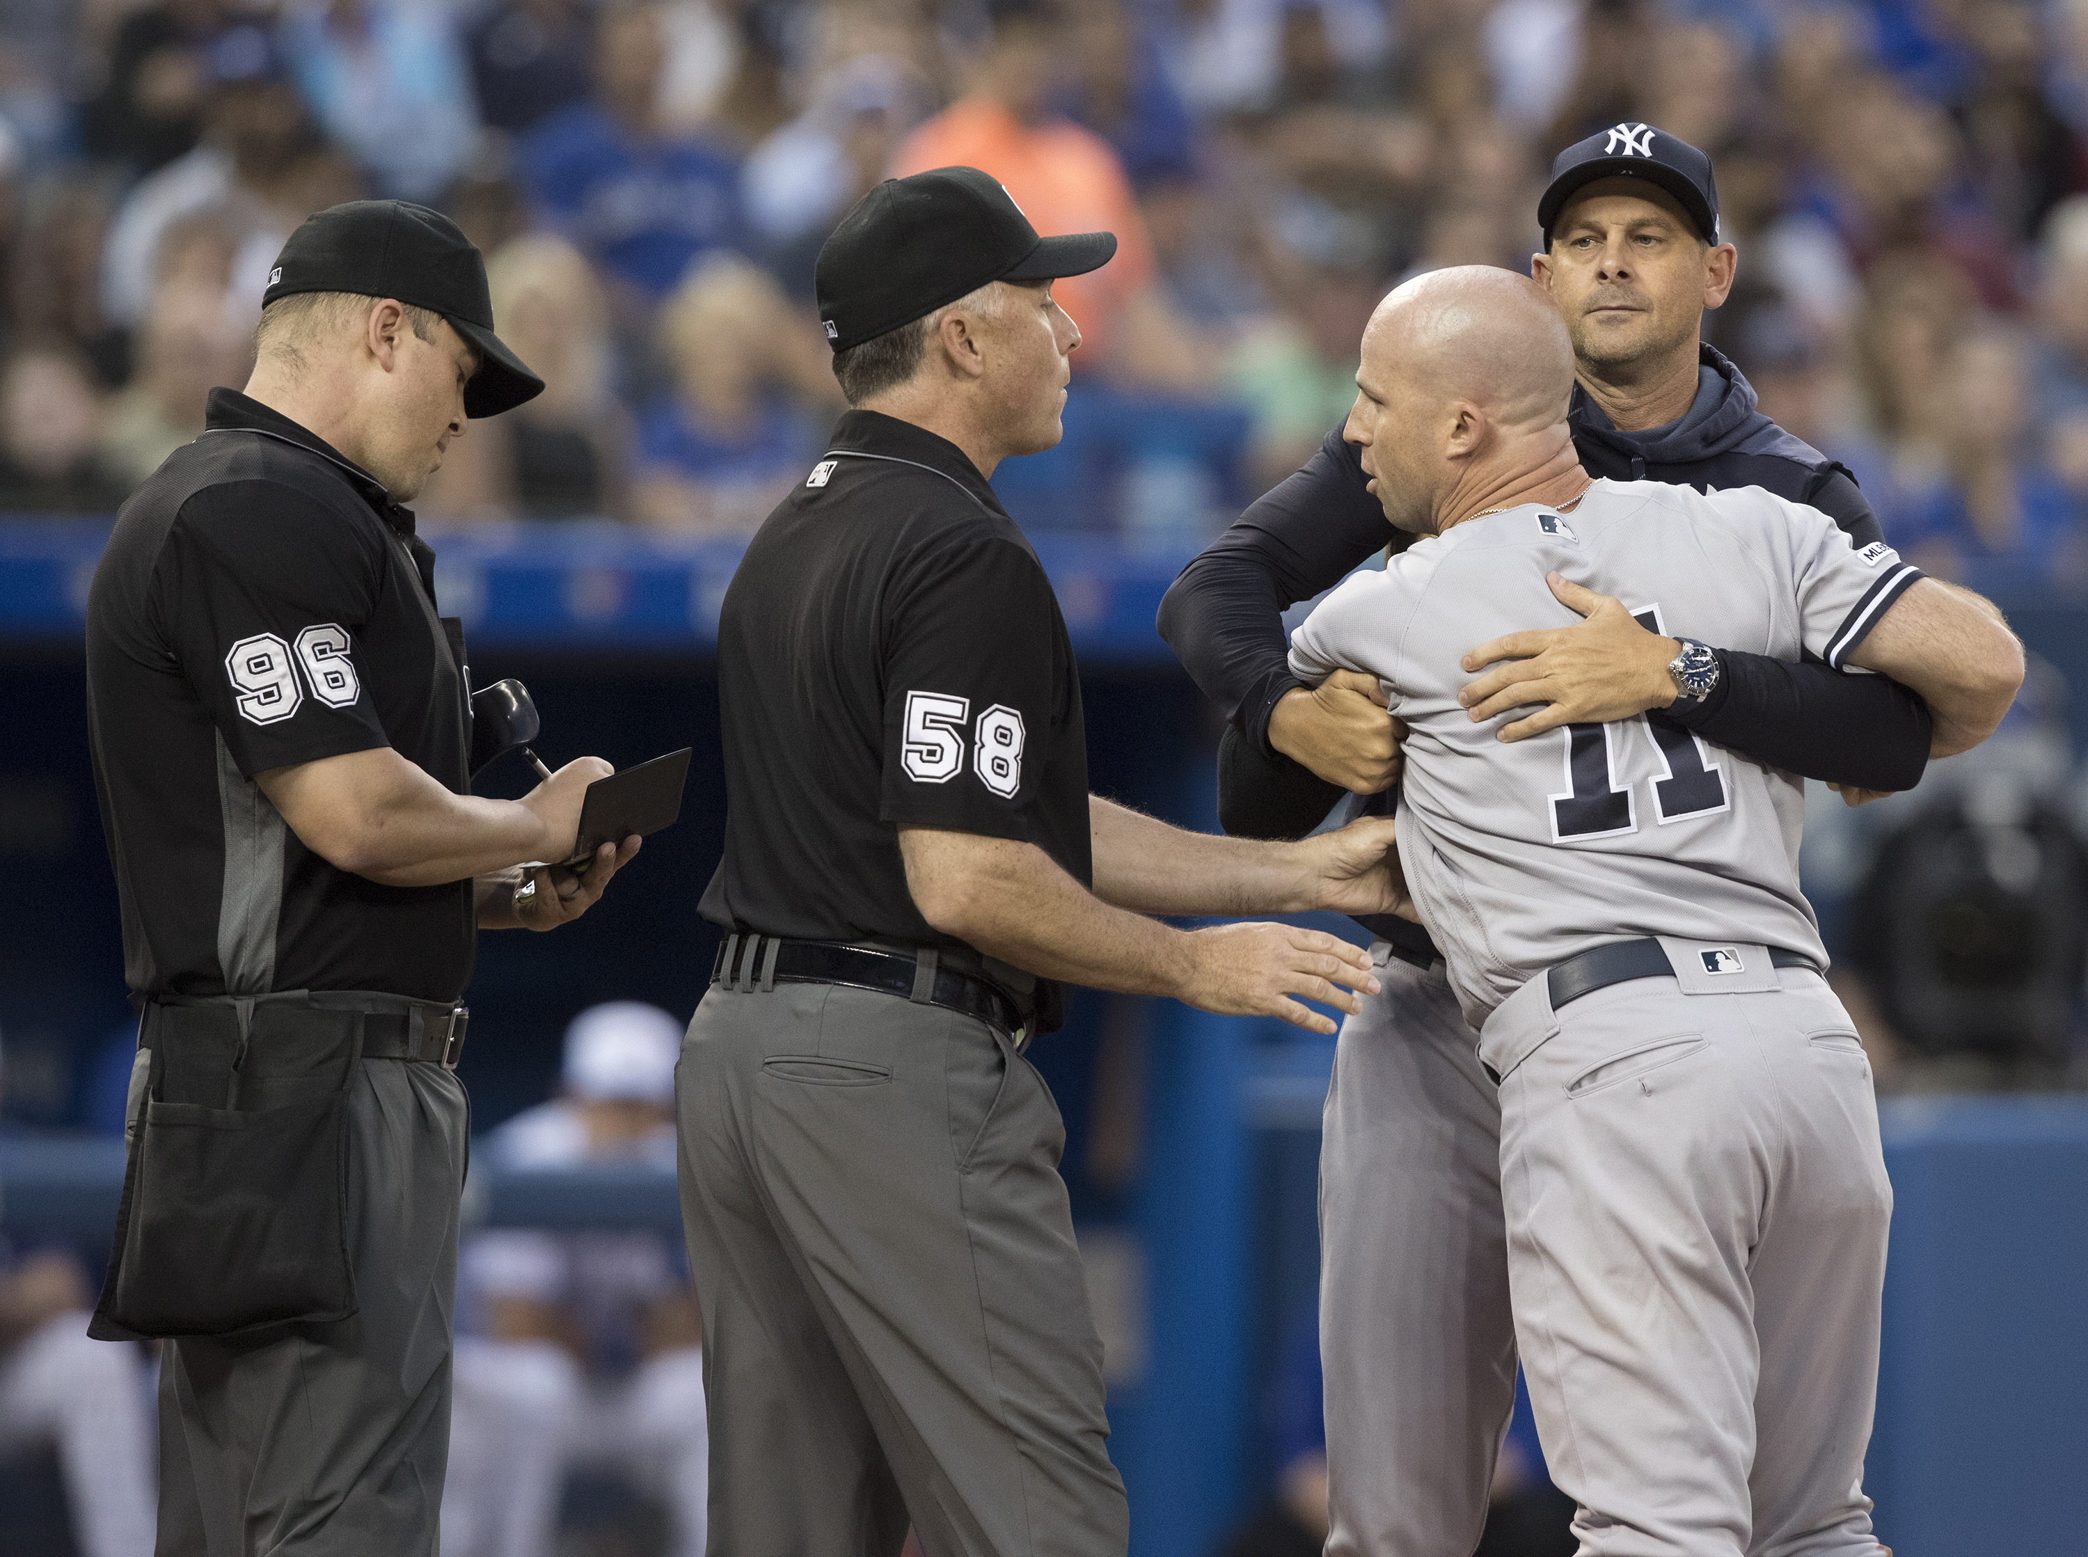
POLYGON ((988 282, 1086 276, 1115 253, 1113 232, 1038 238, 1000 182, 975 167, 887 177, 818 250, 818 321, 827 344, 848 351, 988 282))

